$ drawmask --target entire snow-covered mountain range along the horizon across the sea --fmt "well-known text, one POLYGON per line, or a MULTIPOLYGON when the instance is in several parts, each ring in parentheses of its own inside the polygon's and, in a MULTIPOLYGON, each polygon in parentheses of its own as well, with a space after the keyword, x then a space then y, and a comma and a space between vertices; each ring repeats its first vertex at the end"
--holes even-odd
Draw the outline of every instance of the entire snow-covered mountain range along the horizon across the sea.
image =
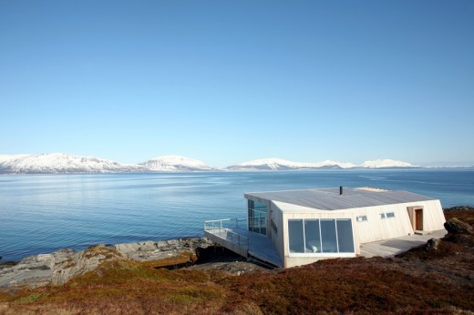
POLYGON ((263 158, 235 164, 227 168, 211 168, 199 160, 180 156, 162 156, 151 158, 139 164, 121 164, 108 159, 78 157, 67 153, 0 155, 0 174, 149 173, 347 168, 419 167, 392 159, 376 159, 356 165, 349 162, 330 160, 317 163, 302 163, 282 158, 263 158))

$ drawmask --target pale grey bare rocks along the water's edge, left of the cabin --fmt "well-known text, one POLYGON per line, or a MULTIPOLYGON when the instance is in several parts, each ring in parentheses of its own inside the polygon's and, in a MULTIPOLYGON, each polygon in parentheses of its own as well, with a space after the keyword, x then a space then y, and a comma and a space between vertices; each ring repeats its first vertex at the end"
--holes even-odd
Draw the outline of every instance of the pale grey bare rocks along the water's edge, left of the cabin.
POLYGON ((68 279, 96 269, 106 260, 133 259, 153 261, 175 258, 182 253, 196 255, 213 243, 205 238, 143 241, 112 246, 99 245, 89 249, 59 249, 50 254, 39 254, 19 262, 0 264, 0 288, 29 286, 37 288, 48 284, 62 285, 68 279))

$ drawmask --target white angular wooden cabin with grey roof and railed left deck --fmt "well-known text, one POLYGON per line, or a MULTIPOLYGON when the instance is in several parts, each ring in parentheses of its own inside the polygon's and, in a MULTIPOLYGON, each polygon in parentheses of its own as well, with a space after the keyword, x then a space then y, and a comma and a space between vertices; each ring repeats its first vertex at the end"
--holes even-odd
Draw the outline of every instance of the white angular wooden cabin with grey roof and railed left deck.
POLYGON ((407 191, 324 188, 244 194, 247 222, 207 221, 205 236, 284 268, 356 257, 364 243, 444 229, 438 199, 407 191), (220 225, 220 226, 219 226, 220 225))

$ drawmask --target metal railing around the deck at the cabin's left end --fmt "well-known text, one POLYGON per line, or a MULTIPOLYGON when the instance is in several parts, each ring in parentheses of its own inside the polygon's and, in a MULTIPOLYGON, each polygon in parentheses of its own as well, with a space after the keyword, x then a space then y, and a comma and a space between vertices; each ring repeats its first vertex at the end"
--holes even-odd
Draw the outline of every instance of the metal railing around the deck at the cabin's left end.
MULTIPOLYGON (((249 239, 238 233, 232 231, 232 228, 239 228, 239 222, 245 222, 244 219, 238 218, 223 218, 204 221, 204 230, 214 235, 218 235, 220 238, 231 242, 232 245, 237 245, 242 249, 248 250, 249 239)), ((245 223, 245 228, 247 224, 245 223)), ((241 223, 243 228, 243 224, 241 223)))

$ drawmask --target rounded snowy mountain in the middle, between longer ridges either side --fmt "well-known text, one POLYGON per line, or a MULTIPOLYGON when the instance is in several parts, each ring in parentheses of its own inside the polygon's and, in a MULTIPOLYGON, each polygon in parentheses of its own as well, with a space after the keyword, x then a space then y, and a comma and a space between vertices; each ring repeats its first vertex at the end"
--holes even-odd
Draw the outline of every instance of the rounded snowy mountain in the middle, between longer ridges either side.
POLYGON ((161 156, 139 163, 139 165, 155 172, 191 172, 214 169, 197 159, 180 156, 161 156))

